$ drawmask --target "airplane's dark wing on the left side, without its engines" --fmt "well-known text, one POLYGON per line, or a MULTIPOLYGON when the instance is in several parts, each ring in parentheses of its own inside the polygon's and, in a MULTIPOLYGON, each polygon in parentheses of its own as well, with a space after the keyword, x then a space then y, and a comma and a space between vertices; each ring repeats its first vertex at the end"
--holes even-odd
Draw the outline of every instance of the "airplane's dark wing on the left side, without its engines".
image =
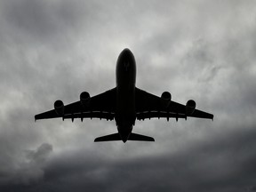
POLYGON ((71 118, 103 118, 113 120, 116 110, 116 88, 100 93, 99 95, 90 98, 88 106, 81 104, 80 100, 70 103, 64 107, 64 115, 60 116, 55 112, 55 109, 46 111, 35 116, 37 119, 49 119, 62 117, 63 119, 71 118))

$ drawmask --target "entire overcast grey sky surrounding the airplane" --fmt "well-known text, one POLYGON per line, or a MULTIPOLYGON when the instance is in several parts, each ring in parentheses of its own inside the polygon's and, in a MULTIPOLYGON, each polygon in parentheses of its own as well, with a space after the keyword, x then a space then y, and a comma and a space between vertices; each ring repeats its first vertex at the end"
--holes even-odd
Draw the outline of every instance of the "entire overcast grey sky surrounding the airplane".
POLYGON ((256 2, 1 0, 1 191, 256 191, 256 2), (115 86, 196 100, 214 121, 136 122, 156 142, 94 143, 115 122, 34 122, 115 86))

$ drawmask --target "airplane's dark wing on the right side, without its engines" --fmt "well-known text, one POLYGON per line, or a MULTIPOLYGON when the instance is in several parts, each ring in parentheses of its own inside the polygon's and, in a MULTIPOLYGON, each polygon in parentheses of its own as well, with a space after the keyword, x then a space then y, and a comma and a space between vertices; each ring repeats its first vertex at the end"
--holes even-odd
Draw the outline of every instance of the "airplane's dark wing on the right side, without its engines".
MULTIPOLYGON (((135 89, 136 117, 138 120, 145 118, 164 117, 169 118, 187 118, 186 106, 171 100, 168 108, 163 108, 161 98, 138 88, 135 89)), ((213 115, 204 111, 195 109, 191 117, 213 119, 213 115)))

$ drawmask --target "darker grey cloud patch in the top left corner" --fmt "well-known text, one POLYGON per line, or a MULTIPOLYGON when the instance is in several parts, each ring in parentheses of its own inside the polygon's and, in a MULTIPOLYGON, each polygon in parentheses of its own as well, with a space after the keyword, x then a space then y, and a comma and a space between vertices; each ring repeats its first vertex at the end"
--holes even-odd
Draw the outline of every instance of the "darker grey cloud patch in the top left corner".
POLYGON ((43 44, 59 37, 64 37, 59 40, 65 40, 65 35, 72 29, 72 32, 79 31, 81 16, 90 11, 86 8, 82 1, 4 1, 2 15, 9 28, 16 30, 13 35, 43 44))

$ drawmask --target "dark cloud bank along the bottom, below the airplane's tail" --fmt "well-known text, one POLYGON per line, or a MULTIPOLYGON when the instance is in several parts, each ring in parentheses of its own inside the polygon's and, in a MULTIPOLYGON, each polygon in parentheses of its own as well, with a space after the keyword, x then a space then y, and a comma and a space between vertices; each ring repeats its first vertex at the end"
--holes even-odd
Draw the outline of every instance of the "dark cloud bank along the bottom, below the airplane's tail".
MULTIPOLYGON (((228 140, 221 136, 219 140, 198 142, 176 154, 122 161, 92 150, 91 156, 73 151, 49 162, 44 181, 20 187, 28 191, 47 191, 52 186, 57 191, 245 191, 255 182, 255 136, 255 131, 247 128, 228 140)), ((10 188, 16 191, 17 186, 10 188)))

